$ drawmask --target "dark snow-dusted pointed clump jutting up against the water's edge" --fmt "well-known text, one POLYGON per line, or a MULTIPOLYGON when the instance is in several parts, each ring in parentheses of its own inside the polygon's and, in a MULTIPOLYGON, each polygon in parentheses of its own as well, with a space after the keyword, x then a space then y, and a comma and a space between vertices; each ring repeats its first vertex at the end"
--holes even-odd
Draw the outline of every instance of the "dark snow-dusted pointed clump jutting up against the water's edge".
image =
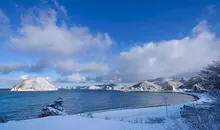
POLYGON ((65 109, 63 108, 62 98, 58 98, 53 104, 47 105, 41 110, 39 117, 65 115, 65 109))

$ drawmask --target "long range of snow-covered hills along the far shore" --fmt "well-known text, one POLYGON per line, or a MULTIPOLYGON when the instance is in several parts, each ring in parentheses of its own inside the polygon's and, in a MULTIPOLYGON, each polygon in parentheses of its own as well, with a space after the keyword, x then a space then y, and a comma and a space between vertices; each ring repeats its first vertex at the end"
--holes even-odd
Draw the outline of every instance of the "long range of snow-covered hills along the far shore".
POLYGON ((116 90, 116 91, 198 91, 201 85, 197 84, 197 78, 157 78, 133 84, 101 84, 85 86, 64 86, 62 89, 83 89, 83 90, 116 90))

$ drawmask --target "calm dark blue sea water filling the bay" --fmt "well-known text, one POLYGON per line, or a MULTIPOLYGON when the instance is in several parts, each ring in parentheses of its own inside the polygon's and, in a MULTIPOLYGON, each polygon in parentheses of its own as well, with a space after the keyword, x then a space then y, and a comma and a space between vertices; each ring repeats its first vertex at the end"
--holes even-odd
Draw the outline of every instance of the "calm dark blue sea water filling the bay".
POLYGON ((179 93, 59 90, 54 92, 10 92, 0 90, 0 117, 8 120, 37 118, 41 109, 62 97, 68 114, 106 109, 178 104, 195 100, 179 93))

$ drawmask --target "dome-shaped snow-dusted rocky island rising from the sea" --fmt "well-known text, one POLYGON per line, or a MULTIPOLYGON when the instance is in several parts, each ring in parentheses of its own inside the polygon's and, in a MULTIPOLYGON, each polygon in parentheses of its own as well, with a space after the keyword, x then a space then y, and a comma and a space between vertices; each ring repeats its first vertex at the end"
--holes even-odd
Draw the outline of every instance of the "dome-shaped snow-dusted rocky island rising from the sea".
POLYGON ((11 91, 55 91, 58 90, 45 78, 30 78, 16 84, 11 91))

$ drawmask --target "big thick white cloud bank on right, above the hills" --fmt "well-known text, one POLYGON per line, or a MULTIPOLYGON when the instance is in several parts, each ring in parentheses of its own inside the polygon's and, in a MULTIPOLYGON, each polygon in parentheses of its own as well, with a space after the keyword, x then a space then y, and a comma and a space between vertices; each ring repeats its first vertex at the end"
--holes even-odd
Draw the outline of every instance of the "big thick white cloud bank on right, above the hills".
POLYGON ((192 36, 161 42, 145 43, 120 53, 118 73, 123 79, 175 76, 197 72, 213 60, 219 60, 220 44, 207 22, 200 22, 192 36))

